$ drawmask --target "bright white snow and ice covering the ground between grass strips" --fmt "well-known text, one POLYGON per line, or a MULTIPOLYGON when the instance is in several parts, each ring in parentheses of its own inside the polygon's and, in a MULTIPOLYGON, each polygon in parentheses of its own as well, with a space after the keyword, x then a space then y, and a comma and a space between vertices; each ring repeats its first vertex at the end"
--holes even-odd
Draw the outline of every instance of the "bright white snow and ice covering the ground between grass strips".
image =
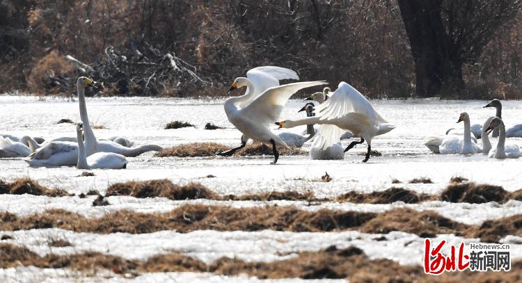
MULTIPOLYGON (((459 113, 468 112, 471 124, 482 124, 494 109, 482 108, 486 101, 372 101, 374 108, 388 122, 397 126, 396 129, 372 141, 372 149, 383 154, 372 156, 368 163, 361 163, 363 156, 356 155, 365 152, 365 145, 358 146, 345 155, 343 161, 313 161, 308 156, 281 156, 277 165, 270 165, 272 156, 265 157, 205 157, 205 158, 158 158, 152 153, 146 153, 136 158, 129 158, 127 170, 93 170, 94 177, 77 177, 81 170, 76 168, 29 168, 22 159, 0 160, 0 177, 8 181, 19 177, 31 177, 49 188, 65 188, 70 193, 86 193, 97 189, 104 193, 109 184, 127 180, 171 179, 175 184, 185 184, 196 181, 204 184, 212 191, 220 194, 240 195, 266 191, 313 191, 316 197, 334 197, 347 191, 372 192, 381 191, 391 186, 409 188, 418 193, 440 193, 451 177, 460 176, 476 181, 503 186, 506 191, 516 191, 522 188, 519 159, 498 161, 487 156, 434 155, 423 145, 427 136, 443 136, 452 127, 461 129, 457 124, 459 113), (328 183, 317 182, 315 179, 328 172, 333 180, 328 183), (206 178, 214 175, 214 178, 206 178), (418 177, 428 177, 434 184, 407 184, 409 180, 418 177), (399 179, 404 184, 391 184, 393 179, 399 179)), ((88 113, 93 124, 103 125, 106 129, 96 129, 97 138, 109 136, 126 136, 135 145, 155 143, 163 147, 193 142, 216 142, 226 145, 239 145, 241 134, 226 119, 222 99, 151 99, 151 98, 95 98, 87 99, 88 113), (165 130, 167 122, 180 120, 196 125, 196 128, 165 130), (204 125, 212 122, 226 129, 205 130, 204 125)), ((281 120, 302 117, 297 113, 304 105, 303 101, 292 100, 281 115, 281 120)), ((522 102, 503 102, 503 117, 505 124, 522 122, 519 115, 522 102)), ((74 136, 72 124, 56 124, 62 118, 79 121, 77 102, 65 102, 59 98, 13 97, 0 96, 0 135, 42 136, 56 138, 74 136)), ((276 125, 273 126, 274 131, 276 125)), ((290 129, 301 133, 304 127, 290 129)), ((347 145, 349 141, 343 141, 347 145)), ((522 146, 522 138, 509 138, 508 143, 522 146)), ((496 146, 496 139, 492 141, 496 146)), ((304 149, 308 149, 306 144, 304 149)), ((36 197, 33 195, 0 195, 0 211, 9 211, 20 215, 45 211, 45 209, 63 208, 78 212, 85 216, 100 216, 109 211, 130 209, 134 211, 152 212, 169 211, 180 204, 202 203, 227 205, 232 207, 252 207, 266 205, 267 202, 218 202, 210 200, 171 201, 163 198, 136 199, 134 197, 109 197, 108 207, 92 207, 92 197, 36 197)), ((417 210, 433 210, 441 215, 466 224, 480 224, 484 220, 498 219, 519 214, 522 203, 509 201, 505 204, 450 204, 448 202, 425 202, 422 204, 337 204, 327 202, 308 207, 301 202, 269 202, 277 205, 296 205, 303 209, 342 209, 354 211, 381 212, 395 207, 411 207, 417 210)), ((267 261, 280 259, 278 252, 298 252, 303 246, 311 250, 319 250, 336 243, 340 246, 356 245, 362 248, 370 257, 388 258, 402 264, 422 264, 422 238, 402 232, 388 234, 387 241, 372 240, 375 235, 358 232, 306 234, 291 232, 214 232, 199 231, 190 234, 175 232, 157 232, 143 235, 109 234, 97 235, 74 233, 59 229, 45 229, 19 232, 0 232, 13 234, 13 243, 26 245, 39 253, 73 252, 88 250, 94 247, 93 241, 102 241, 97 245, 102 252, 120 256, 148 257, 153 254, 178 250, 193 255, 205 261, 222 255, 241 257, 243 259, 267 261), (50 236, 64 236, 72 248, 49 248, 46 244, 50 236), (113 237, 113 238, 111 238, 113 237), (391 238, 390 238, 391 237, 391 238), (111 241, 128 241, 136 248, 130 252, 118 250, 111 241), (150 240, 147 240, 149 239, 150 240), (206 239, 206 241, 205 241, 206 239), (210 241, 209 239, 212 239, 210 241), (280 240, 284 240, 280 243, 280 240), (408 254, 415 257, 406 259, 400 252, 404 251, 404 243, 408 245, 408 254), (142 245, 136 245, 142 243, 142 245), (181 245, 182 243, 183 245, 181 245), (228 244, 227 244, 228 243, 228 244), (303 245, 306 243, 306 245, 303 245), (313 243, 313 244, 311 244, 313 243), (386 245, 386 249, 383 248, 386 245), (400 247, 393 251, 393 247, 400 247), (251 248, 264 247, 262 253, 256 253, 251 248)), ((461 239, 452 235, 441 237, 450 241, 461 239)), ((507 236, 509 238, 509 236, 507 236)), ((513 238, 509 238, 512 239, 513 238)), ((475 239, 476 240, 476 239, 475 239)), ((473 241, 475 241, 473 240, 473 241)), ((9 242, 7 241, 7 242, 9 242)), ((466 239, 472 241, 472 239, 466 239)), ((518 241, 518 240, 517 240, 518 241)), ((3 243, 4 241, 1 241, 3 243)), ((516 241, 514 241, 516 242, 516 241)), ((512 249, 522 254, 519 244, 512 244, 512 249)), ((127 246, 127 245, 126 245, 127 246)), ((0 270, 2 278, 25 277, 25 282, 31 278, 49 277, 49 282, 68 282, 75 276, 64 270, 38 270, 38 268, 20 267, 0 270), (72 276, 72 277, 71 277, 72 276)), ((173 274, 145 274, 143 280, 168 280, 173 274)), ((176 273, 180 282, 230 282, 230 278, 208 274, 176 273)), ((84 278, 85 279, 85 278, 84 278)), ((93 281, 94 277, 91 277, 93 281)), ((136 280, 137 278, 134 278, 136 280)), ((75 280, 83 280, 81 276, 75 280)), ((97 278, 104 280, 104 276, 97 278)), ((116 277, 113 280, 122 280, 116 277)), ((4 280, 5 281, 5 280, 4 280)), ((8 280, 9 281, 9 280, 8 280)), ((34 282, 40 282, 35 280, 34 282)), ((235 277, 232 281, 255 282, 255 278, 235 277)), ((299 282, 286 280, 281 282, 299 282)))

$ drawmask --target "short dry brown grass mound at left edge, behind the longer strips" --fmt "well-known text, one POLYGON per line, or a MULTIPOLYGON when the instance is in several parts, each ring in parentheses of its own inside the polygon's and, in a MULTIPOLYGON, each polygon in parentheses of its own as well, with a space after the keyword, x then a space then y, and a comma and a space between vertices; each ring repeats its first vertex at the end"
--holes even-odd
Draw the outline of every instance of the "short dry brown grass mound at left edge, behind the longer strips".
POLYGON ((0 180, 0 194, 23 195, 45 195, 48 197, 64 197, 72 194, 62 189, 49 189, 29 178, 19 178, 11 183, 0 180))

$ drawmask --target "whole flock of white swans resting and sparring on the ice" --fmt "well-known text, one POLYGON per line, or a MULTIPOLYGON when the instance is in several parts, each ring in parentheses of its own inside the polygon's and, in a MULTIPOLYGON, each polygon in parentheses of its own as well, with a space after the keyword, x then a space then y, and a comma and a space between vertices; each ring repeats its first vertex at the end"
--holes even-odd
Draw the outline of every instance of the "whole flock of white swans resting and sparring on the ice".
MULTIPOLYGON (((280 85, 280 80, 299 80, 293 70, 264 66, 255 67, 246 72, 246 77, 238 77, 229 90, 246 88, 244 95, 229 97, 224 108, 228 120, 242 132, 241 144, 225 152, 216 152, 219 156, 231 156, 246 146, 248 140, 255 140, 269 145, 274 154, 274 161, 279 158, 278 147, 302 147, 308 140, 311 159, 344 159, 345 152, 358 144, 367 144, 363 162, 370 159, 372 139, 395 129, 393 124, 374 110, 361 92, 342 81, 335 91, 325 87, 322 92, 315 92, 307 97, 307 102, 299 112, 304 111, 306 118, 299 120, 280 120, 281 111, 288 99, 299 90, 326 85, 326 81, 298 81, 280 85), (270 129, 276 124, 279 128, 293 128, 306 125, 302 134, 282 132, 275 134, 270 129), (346 148, 341 145, 343 139, 355 139, 346 148)), ((132 147, 132 141, 124 137, 97 139, 90 127, 86 109, 84 90, 96 82, 85 76, 77 80, 79 113, 81 122, 76 124, 77 136, 45 140, 40 137, 3 135, 0 136, 0 158, 25 157, 30 166, 76 165, 79 169, 122 169, 127 167, 129 156, 138 156, 143 152, 160 151, 158 145, 132 147)), ((520 149, 516 145, 505 144, 506 138, 521 137, 522 124, 505 128, 502 120, 502 104, 493 99, 484 108, 496 108, 496 116, 491 116, 480 124, 470 125, 468 113, 461 113, 457 122, 464 122, 464 131, 449 129, 444 136, 428 137, 426 147, 435 154, 487 154, 491 158, 519 158, 520 149), (471 134, 473 133, 473 136, 471 134), (498 137, 496 147, 492 148, 489 134, 498 137), (482 141, 482 147, 477 144, 482 141)))

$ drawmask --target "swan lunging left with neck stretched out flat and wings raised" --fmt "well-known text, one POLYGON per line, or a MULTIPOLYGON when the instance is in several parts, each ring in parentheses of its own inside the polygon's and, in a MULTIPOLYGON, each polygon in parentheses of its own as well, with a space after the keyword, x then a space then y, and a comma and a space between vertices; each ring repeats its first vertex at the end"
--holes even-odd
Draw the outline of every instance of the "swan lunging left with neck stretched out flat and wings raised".
POLYGON ((342 135, 342 129, 349 130, 356 136, 361 137, 359 142, 351 142, 345 149, 347 152, 354 145, 366 143, 367 153, 363 162, 370 159, 370 152, 372 150, 372 138, 381 134, 386 134, 388 131, 395 129, 395 126, 388 124, 379 113, 377 113, 372 104, 364 97, 361 92, 358 92, 354 87, 342 81, 339 83, 338 89, 333 92, 333 95, 323 104, 317 106, 316 110, 319 115, 309 117, 301 120, 285 120, 276 122, 279 127, 292 128, 303 124, 333 124, 337 127, 321 127, 317 137, 322 136, 322 146, 326 149, 334 143, 338 143, 342 135))

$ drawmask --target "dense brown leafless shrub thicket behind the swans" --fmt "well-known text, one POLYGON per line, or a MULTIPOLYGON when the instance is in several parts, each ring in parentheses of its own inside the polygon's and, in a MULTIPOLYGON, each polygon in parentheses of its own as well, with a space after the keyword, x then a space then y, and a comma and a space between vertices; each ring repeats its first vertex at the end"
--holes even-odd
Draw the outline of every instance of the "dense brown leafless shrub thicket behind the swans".
MULTIPOLYGON (((521 28, 519 15, 464 65, 468 97, 522 96, 521 28)), ((72 92, 63 86, 83 69, 104 81, 104 95, 221 96, 260 65, 333 88, 347 81, 369 97, 415 91, 396 1, 0 2, 0 92, 72 92)))

